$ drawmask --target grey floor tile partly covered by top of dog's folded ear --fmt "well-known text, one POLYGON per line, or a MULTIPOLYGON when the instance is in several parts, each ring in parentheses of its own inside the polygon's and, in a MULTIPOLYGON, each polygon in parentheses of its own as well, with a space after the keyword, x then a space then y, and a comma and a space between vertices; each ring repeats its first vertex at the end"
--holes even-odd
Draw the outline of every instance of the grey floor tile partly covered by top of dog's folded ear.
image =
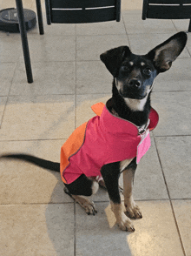
POLYGON ((104 51, 121 45, 128 45, 126 35, 78 36, 76 40, 77 61, 99 60, 104 51))

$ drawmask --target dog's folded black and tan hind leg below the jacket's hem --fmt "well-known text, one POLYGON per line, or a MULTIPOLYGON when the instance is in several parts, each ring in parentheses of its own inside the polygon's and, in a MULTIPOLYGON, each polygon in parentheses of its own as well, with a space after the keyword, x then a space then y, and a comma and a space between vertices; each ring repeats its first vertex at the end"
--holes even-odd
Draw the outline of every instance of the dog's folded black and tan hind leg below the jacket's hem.
POLYGON ((87 178, 85 175, 81 175, 73 183, 65 185, 64 192, 76 201, 82 208, 85 209, 87 214, 93 214, 97 212, 94 202, 90 201, 87 196, 91 196, 97 192, 99 188, 98 183, 87 178))

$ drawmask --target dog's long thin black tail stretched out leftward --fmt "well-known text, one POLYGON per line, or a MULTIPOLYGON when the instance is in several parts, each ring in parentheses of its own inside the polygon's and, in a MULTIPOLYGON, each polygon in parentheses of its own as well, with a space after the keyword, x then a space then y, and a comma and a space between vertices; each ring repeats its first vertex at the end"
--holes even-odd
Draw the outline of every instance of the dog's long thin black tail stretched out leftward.
POLYGON ((5 154, 5 155, 0 155, 0 158, 20 159, 50 171, 60 172, 60 163, 51 162, 48 160, 44 160, 42 158, 36 158, 34 156, 27 155, 27 154, 5 154))

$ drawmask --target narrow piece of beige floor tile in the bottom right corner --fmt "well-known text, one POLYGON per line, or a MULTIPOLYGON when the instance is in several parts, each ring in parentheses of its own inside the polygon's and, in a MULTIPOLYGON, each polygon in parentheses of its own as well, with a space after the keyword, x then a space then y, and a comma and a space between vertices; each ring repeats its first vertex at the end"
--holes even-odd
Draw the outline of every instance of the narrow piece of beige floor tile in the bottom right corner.
POLYGON ((191 200, 174 200, 172 203, 186 255, 191 255, 191 200))

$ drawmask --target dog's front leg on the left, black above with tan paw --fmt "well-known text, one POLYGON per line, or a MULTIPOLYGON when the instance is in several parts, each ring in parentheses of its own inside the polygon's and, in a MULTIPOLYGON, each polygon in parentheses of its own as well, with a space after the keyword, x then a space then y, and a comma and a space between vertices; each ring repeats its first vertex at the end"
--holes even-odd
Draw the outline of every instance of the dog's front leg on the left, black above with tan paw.
POLYGON ((123 212, 123 205, 119 192, 120 163, 117 162, 103 165, 101 173, 109 192, 111 210, 115 214, 117 225, 124 231, 135 231, 131 220, 123 212))

